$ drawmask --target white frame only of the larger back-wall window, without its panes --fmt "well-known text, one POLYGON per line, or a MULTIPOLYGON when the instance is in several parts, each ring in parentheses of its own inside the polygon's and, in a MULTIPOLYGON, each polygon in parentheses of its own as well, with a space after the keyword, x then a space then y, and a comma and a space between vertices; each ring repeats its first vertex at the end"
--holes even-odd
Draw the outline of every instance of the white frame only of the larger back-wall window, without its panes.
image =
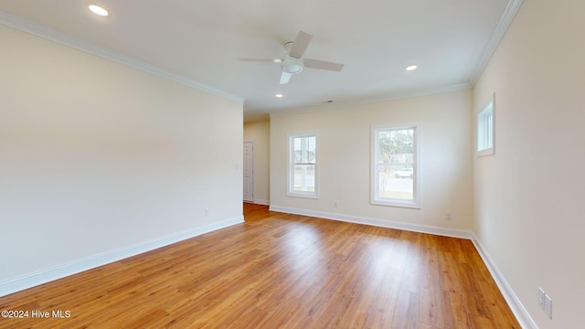
POLYGON ((389 207, 411 207, 418 208, 422 207, 422 128, 419 122, 398 124, 398 125, 384 125, 384 126, 372 126, 371 127, 371 193, 370 203, 372 205, 389 206, 389 207), (414 144, 413 144, 413 173, 412 176, 412 199, 399 199, 381 197, 378 195, 379 191, 379 143, 378 136, 379 132, 391 131, 391 130, 414 130, 414 144))

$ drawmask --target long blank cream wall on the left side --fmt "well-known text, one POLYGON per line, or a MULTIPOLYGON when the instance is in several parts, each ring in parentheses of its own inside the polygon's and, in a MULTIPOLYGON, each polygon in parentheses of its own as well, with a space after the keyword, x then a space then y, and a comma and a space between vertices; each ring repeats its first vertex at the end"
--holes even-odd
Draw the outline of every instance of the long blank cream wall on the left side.
POLYGON ((241 104, 9 27, 0 39, 0 285, 241 218, 241 104))

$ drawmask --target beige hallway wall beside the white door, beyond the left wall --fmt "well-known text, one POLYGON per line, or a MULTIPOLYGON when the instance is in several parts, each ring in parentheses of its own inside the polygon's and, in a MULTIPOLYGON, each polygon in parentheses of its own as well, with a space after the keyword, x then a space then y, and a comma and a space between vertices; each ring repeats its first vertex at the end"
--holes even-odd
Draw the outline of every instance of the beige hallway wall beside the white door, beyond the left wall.
POLYGON ((271 121, 245 123, 244 142, 254 142, 254 203, 269 205, 271 200, 271 121))

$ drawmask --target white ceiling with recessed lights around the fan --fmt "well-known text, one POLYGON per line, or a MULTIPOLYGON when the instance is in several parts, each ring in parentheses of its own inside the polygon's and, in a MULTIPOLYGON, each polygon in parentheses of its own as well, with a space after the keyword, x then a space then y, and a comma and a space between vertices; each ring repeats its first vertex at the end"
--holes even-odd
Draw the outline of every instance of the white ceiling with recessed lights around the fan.
POLYGON ((1 0, 0 23, 42 30, 37 34, 244 101, 250 122, 269 113, 467 88, 519 2, 1 0), (110 16, 92 14, 92 3, 110 16), (283 58, 283 44, 299 30, 314 35, 303 58, 344 69, 304 69, 281 85, 279 64, 240 60, 283 58), (407 72, 412 63, 419 69, 407 72))

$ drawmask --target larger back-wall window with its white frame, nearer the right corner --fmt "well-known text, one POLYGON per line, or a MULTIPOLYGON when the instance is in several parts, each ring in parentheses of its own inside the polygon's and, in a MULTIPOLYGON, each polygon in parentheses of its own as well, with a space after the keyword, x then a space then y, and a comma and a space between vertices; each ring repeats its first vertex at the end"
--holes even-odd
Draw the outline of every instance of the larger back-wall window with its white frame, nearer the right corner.
POLYGON ((372 127, 374 205, 420 208, 420 127, 372 127))

